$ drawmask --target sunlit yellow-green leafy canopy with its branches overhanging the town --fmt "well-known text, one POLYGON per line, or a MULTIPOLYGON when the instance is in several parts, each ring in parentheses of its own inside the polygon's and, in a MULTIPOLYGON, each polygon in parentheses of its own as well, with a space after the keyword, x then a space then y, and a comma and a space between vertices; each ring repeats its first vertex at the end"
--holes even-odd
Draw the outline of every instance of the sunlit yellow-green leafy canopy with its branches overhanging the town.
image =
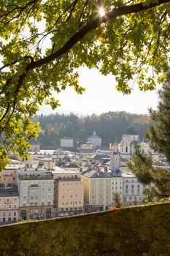
POLYGON ((125 94, 134 83, 155 89, 168 70, 169 1, 1 0, 1 162, 9 150, 23 155, 37 135, 31 116, 43 103, 59 105, 54 91, 84 91, 82 65, 115 75, 125 94))

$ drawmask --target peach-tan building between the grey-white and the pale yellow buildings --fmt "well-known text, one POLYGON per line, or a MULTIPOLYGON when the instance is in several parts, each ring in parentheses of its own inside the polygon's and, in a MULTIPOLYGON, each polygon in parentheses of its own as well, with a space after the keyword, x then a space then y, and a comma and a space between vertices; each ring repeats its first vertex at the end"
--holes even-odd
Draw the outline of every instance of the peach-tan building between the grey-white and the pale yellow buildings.
POLYGON ((84 211, 84 181, 81 173, 55 167, 55 216, 82 214, 84 211))

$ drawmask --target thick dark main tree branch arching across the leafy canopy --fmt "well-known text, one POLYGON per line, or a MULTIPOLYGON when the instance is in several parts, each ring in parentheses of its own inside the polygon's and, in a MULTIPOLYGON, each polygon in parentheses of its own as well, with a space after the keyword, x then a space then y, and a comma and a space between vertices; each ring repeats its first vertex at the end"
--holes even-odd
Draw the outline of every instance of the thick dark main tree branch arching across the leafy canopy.
MULTIPOLYGON (((36 1, 38 1, 38 0, 36 0, 36 1)), ((31 2, 36 2, 36 1, 31 1, 31 2)), ((74 3, 76 3, 76 2, 77 1, 74 1, 74 3)), ((98 18, 93 18, 82 29, 80 29, 80 31, 77 31, 77 33, 74 34, 74 36, 71 39, 69 39, 60 50, 57 50, 54 53, 51 53, 50 56, 46 56, 45 58, 39 59, 38 61, 34 61, 33 59, 31 59, 31 62, 26 65, 26 68, 23 70, 23 73, 19 76, 18 84, 17 84, 15 92, 14 92, 15 99, 13 101, 12 113, 14 113, 15 103, 17 101, 18 92, 20 91, 20 88, 23 85, 23 81, 25 80, 25 78, 28 75, 28 72, 30 72, 31 69, 35 69, 37 67, 42 67, 43 65, 50 63, 50 61, 54 61, 55 59, 58 59, 59 57, 61 57, 63 54, 68 53, 69 50, 74 45, 76 45, 76 43, 79 42, 83 37, 85 37, 85 35, 88 34, 89 31, 96 29, 102 23, 107 23, 108 20, 115 19, 122 15, 128 15, 131 13, 138 13, 138 12, 142 12, 144 10, 149 10, 153 7, 157 7, 161 4, 166 4, 169 2, 170 2, 170 0, 160 0, 157 3, 150 4, 150 6, 144 6, 145 2, 143 2, 140 4, 133 4, 133 5, 115 8, 115 9, 107 12, 103 17, 99 17, 99 15, 98 15, 98 18)), ((10 81, 7 80, 7 83, 12 83, 12 80, 10 80, 10 81)), ((6 85, 7 85, 7 83, 6 83, 6 85)))

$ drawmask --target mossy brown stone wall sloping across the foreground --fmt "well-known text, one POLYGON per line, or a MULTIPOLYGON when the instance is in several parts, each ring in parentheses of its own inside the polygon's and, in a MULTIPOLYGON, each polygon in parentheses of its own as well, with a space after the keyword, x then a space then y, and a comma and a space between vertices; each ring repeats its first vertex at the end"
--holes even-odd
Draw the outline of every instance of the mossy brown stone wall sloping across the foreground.
POLYGON ((1 256, 169 256, 170 203, 0 227, 1 256))

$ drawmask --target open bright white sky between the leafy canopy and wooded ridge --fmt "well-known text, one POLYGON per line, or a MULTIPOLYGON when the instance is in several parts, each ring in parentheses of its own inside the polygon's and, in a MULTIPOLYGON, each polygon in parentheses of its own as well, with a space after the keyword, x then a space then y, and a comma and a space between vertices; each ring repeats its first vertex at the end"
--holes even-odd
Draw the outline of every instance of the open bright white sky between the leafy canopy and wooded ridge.
POLYGON ((117 110, 148 113, 147 109, 156 108, 158 103, 157 91, 143 92, 136 87, 130 95, 123 95, 115 89, 112 75, 101 75, 96 69, 81 68, 80 85, 86 88, 82 95, 77 94, 72 86, 57 95, 61 102, 58 109, 80 111, 89 115, 117 110))

